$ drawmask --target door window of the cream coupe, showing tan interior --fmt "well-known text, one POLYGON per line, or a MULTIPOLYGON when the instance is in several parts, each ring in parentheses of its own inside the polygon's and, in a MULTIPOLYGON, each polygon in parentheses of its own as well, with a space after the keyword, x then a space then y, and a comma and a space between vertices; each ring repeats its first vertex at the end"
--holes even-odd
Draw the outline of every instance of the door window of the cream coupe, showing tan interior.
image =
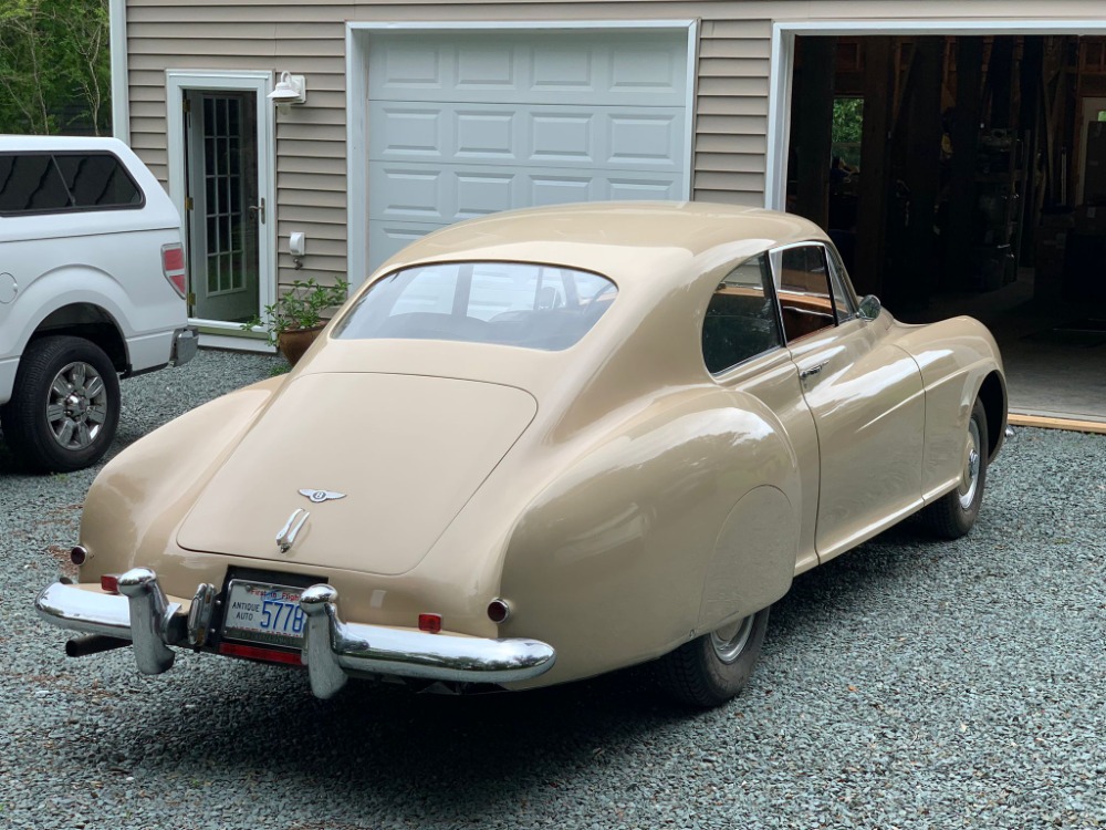
POLYGON ((774 251, 773 266, 789 343, 837 324, 825 248, 797 245, 774 251))

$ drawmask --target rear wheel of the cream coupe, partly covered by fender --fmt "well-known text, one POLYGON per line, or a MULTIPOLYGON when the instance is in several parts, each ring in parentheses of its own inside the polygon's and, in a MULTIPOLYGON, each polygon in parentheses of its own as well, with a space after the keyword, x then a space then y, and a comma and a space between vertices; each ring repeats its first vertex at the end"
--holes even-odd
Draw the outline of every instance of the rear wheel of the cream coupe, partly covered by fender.
POLYGON ((768 631, 768 609, 685 643, 657 661, 657 678, 691 706, 719 706, 744 688, 768 631))

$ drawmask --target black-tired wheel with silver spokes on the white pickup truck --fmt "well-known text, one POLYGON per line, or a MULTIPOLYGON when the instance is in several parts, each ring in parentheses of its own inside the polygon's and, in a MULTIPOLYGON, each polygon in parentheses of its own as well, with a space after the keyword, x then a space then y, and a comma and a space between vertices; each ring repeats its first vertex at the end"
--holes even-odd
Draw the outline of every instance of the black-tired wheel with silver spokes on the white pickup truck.
POLYGON ((56 335, 32 340, 0 418, 4 443, 29 469, 69 473, 88 467, 115 437, 119 376, 91 341, 56 335))

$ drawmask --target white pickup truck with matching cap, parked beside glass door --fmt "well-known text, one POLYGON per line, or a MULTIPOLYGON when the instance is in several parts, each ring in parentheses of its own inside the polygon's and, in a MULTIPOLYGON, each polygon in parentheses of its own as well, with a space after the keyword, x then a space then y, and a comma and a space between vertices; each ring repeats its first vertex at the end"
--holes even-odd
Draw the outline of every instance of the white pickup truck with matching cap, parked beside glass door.
POLYGON ((0 136, 0 427, 33 470, 95 464, 119 377, 196 354, 180 220, 114 138, 0 136))

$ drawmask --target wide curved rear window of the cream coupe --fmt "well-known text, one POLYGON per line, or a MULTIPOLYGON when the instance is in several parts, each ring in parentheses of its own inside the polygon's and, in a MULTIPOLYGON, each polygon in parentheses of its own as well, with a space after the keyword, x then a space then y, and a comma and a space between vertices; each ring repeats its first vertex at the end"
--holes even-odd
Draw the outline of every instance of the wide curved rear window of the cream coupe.
POLYGON ((611 307, 615 283, 587 271, 520 262, 406 268, 375 282, 337 322, 344 340, 399 338, 561 351, 611 307))

